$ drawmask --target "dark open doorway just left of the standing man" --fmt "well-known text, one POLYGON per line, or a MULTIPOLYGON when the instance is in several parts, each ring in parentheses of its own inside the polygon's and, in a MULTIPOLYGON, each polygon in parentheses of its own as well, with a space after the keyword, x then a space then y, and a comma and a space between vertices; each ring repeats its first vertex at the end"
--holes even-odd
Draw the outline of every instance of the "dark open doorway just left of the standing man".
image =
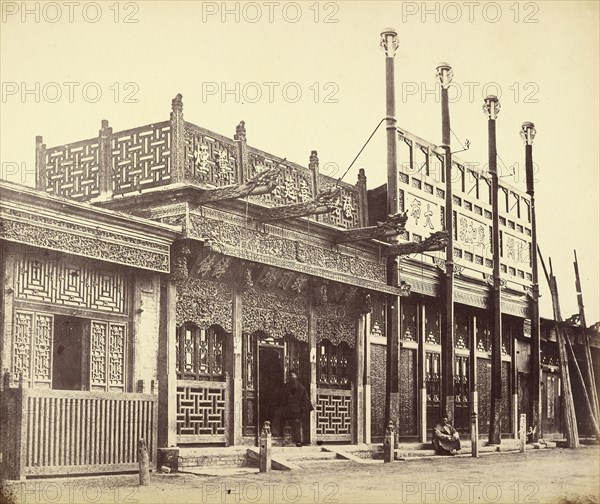
POLYGON ((281 387, 284 383, 283 347, 258 347, 258 430, 271 422, 271 433, 283 435, 281 387))

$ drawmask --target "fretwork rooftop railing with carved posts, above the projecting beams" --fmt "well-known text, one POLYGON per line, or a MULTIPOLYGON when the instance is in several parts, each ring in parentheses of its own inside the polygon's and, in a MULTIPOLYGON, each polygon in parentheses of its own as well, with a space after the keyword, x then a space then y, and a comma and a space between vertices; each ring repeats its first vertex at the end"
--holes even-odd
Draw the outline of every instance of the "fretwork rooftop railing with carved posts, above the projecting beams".
POLYGON ((46 148, 42 137, 36 139, 36 187, 80 201, 126 196, 177 182, 206 188, 243 184, 272 166, 281 167, 277 187, 270 194, 250 196, 253 203, 307 202, 337 185, 336 210, 317 220, 338 228, 366 225, 364 175, 353 186, 319 173, 316 151, 305 168, 251 147, 244 122, 231 139, 184 121, 181 95, 173 100, 168 121, 113 132, 104 120, 97 138, 57 147, 46 148))

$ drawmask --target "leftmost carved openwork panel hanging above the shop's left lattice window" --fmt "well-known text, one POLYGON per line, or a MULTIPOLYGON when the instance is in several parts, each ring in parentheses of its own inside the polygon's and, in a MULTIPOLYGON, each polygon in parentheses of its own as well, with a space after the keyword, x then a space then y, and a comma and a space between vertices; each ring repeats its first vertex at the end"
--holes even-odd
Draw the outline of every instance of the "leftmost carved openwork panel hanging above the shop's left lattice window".
POLYGON ((201 329, 218 324, 232 332, 233 294, 226 283, 188 278, 177 281, 177 325, 194 322, 201 329))

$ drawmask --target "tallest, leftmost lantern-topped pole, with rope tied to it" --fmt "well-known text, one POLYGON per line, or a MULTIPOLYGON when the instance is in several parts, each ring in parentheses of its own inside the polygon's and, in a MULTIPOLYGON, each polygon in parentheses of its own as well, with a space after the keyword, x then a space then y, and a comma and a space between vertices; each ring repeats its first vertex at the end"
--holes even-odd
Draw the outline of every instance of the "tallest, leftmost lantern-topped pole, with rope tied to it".
MULTIPOLYGON (((398 33, 386 28, 381 33, 381 46, 385 51, 385 91, 386 91, 386 131, 387 131, 387 211, 396 214, 398 208, 398 161, 396 146, 396 97, 394 92, 394 56, 398 49, 398 33)), ((397 287, 398 257, 387 259, 387 283, 397 287)), ((400 395, 398 392, 398 351, 400 335, 400 296, 391 295, 387 303, 387 352, 386 352, 386 394, 385 424, 391 421, 398 427, 400 395)), ((396 436, 397 438, 397 436, 396 436)))

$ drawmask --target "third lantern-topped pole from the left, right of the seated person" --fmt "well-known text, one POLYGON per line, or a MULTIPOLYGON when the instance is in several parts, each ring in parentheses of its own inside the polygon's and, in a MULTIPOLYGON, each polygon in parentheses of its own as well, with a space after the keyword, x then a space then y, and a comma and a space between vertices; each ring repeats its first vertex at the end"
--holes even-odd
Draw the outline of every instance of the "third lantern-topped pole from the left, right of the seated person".
POLYGON ((498 167, 496 154, 496 118, 500 102, 496 96, 485 98, 483 111, 488 116, 488 163, 492 176, 492 234, 493 271, 493 323, 492 338, 492 407, 490 411, 489 443, 500 444, 502 410, 502 308, 500 283, 500 216, 498 214, 498 167))

